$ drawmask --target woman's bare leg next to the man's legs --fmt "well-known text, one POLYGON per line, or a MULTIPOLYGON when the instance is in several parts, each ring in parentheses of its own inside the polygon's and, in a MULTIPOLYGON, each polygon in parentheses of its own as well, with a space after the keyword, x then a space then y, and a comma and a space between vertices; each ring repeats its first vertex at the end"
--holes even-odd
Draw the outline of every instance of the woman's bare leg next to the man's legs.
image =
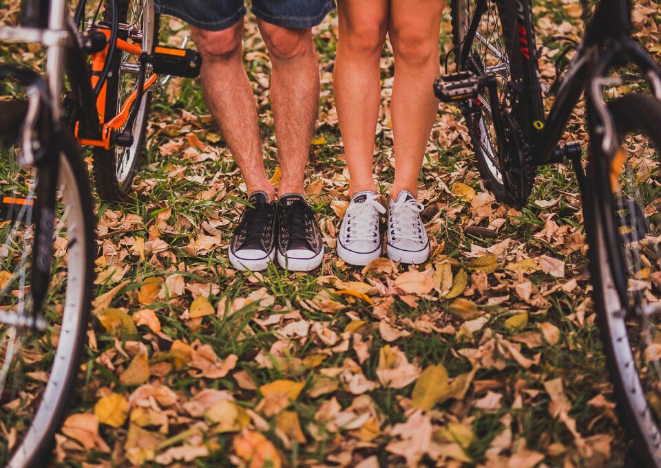
POLYGON ((333 85, 351 196, 375 190, 374 135, 381 104, 379 59, 388 28, 388 3, 337 1, 339 42, 333 85))

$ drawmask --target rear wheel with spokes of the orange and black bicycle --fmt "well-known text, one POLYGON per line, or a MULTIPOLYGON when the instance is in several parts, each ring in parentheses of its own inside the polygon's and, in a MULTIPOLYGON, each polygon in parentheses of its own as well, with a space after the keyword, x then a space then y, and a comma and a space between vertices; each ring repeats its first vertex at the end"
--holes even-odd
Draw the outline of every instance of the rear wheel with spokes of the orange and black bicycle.
MULTIPOLYGON (((118 10, 119 38, 125 41, 132 38, 134 42, 142 44, 145 52, 151 53, 158 41, 158 15, 154 12, 154 1, 118 0, 118 10)), ((103 19, 112 21, 112 1, 105 1, 103 19)), ((147 78, 151 75, 150 70, 151 66, 147 65, 147 78)), ((125 100, 136 89, 137 79, 138 58, 118 49, 107 78, 106 121, 120 111, 125 100)), ((135 104, 138 106, 138 115, 131 131, 131 146, 113 144, 109 150, 94 148, 94 181, 99 197, 104 200, 122 201, 131 190, 145 143, 150 101, 151 91, 147 91, 143 99, 135 104)))

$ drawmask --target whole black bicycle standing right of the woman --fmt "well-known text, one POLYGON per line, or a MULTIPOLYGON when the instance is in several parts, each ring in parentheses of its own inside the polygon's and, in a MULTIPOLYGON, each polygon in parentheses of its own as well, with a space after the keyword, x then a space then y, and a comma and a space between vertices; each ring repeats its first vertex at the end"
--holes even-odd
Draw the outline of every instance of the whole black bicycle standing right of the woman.
POLYGON ((593 300, 620 418, 632 451, 661 467, 661 68, 631 38, 631 5, 602 0, 551 91, 545 115, 529 0, 452 0, 457 72, 437 97, 456 102, 481 176, 521 208, 539 166, 571 161, 583 197, 593 300), (642 77, 641 93, 618 96, 642 77), (585 91, 587 167, 558 142, 585 91))

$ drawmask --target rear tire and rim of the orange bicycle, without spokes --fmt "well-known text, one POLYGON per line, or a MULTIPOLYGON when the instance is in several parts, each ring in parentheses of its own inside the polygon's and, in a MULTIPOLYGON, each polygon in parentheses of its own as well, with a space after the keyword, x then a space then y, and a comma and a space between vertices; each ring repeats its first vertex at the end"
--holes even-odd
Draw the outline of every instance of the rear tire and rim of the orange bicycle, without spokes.
MULTIPOLYGON (((129 19, 131 12, 131 3, 138 0, 118 0, 119 21, 125 23, 129 19)), ((145 32, 143 19, 140 21, 140 30, 143 31, 143 50, 147 49, 151 53, 154 45, 158 41, 158 14, 154 11, 153 0, 146 0, 151 4, 151 10, 154 14, 154 27, 145 32)), ((140 18, 142 16, 140 15, 140 18)), ((103 20, 112 21, 112 1, 105 0, 105 11, 103 20)), ((127 32, 120 30, 120 38, 126 40, 127 32)), ((105 120, 110 120, 118 113, 122 104, 120 89, 120 80, 123 76, 121 65, 123 61, 123 52, 118 50, 113 58, 110 67, 110 74, 106 81, 106 100, 105 100, 105 120)), ((109 149, 94 148, 94 181, 96 182, 96 192, 98 196, 107 201, 124 201, 131 191, 133 180, 136 176, 136 170, 142 159, 143 145, 145 144, 145 131, 147 129, 147 119, 149 118, 149 104, 151 102, 151 91, 144 94, 143 100, 139 106, 138 115, 133 127, 133 144, 127 148, 112 144, 109 149)))

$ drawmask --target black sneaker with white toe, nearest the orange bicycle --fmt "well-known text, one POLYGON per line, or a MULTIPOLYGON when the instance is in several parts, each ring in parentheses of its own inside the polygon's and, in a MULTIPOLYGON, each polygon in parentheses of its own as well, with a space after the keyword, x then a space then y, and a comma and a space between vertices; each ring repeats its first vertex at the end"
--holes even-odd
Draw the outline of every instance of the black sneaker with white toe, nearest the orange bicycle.
POLYGON ((229 261, 242 271, 262 271, 275 257, 277 203, 269 203, 264 192, 254 192, 229 243, 229 261))

